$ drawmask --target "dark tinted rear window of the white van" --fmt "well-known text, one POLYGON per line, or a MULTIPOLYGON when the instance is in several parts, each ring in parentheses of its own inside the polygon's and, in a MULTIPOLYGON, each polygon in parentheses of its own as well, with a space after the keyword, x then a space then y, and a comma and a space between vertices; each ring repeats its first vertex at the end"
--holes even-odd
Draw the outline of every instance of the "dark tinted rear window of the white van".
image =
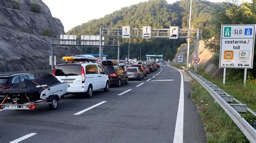
POLYGON ((56 67, 55 76, 82 75, 81 65, 60 65, 56 67))

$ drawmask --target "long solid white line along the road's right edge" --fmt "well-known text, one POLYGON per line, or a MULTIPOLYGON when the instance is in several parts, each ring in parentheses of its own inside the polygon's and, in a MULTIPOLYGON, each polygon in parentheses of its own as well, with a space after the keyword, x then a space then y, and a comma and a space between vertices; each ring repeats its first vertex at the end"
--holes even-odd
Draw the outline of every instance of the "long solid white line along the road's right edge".
MULTIPOLYGON (((179 70, 178 70, 179 71, 179 70)), ((183 75, 179 71, 181 76, 180 94, 179 94, 179 106, 175 125, 175 132, 173 142, 183 142, 183 124, 184 124, 184 80, 183 75)))

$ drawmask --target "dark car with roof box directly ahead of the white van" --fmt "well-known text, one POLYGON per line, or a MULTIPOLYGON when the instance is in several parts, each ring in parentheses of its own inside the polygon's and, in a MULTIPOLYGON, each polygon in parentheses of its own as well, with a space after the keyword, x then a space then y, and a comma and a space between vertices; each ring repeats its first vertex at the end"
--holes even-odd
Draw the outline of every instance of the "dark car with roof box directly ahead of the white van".
POLYGON ((102 64, 104 73, 109 76, 110 84, 117 85, 118 87, 120 87, 121 84, 128 84, 128 77, 122 67, 111 64, 110 61, 104 61, 102 64))

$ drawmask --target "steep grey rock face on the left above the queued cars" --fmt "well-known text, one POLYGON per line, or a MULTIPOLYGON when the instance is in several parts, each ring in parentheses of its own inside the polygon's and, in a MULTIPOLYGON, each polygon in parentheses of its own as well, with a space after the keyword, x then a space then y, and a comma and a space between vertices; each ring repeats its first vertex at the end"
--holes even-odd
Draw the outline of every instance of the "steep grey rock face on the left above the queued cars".
MULTIPOLYGON (((64 34, 42 0, 0 0, 0 72, 50 69, 50 37, 64 34), (31 4, 40 5, 37 13, 31 4)), ((55 46, 57 63, 62 56, 81 54, 78 47, 55 46)))

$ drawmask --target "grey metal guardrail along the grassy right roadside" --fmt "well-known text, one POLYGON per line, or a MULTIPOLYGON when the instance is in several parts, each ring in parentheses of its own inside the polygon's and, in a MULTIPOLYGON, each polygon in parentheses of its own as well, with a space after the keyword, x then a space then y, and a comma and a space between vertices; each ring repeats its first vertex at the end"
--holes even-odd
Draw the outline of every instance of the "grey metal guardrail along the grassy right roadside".
POLYGON ((228 116, 234 121, 234 123, 240 128, 246 138, 251 141, 256 141, 256 130, 240 116, 238 112, 249 111, 255 116, 255 112, 248 108, 245 104, 242 104, 233 96, 227 94, 224 90, 221 90, 217 85, 214 85, 210 81, 206 80, 203 76, 197 75, 192 71, 188 73, 196 79, 215 99, 215 101, 223 108, 228 116), (237 104, 229 104, 231 102, 237 102, 237 104))

